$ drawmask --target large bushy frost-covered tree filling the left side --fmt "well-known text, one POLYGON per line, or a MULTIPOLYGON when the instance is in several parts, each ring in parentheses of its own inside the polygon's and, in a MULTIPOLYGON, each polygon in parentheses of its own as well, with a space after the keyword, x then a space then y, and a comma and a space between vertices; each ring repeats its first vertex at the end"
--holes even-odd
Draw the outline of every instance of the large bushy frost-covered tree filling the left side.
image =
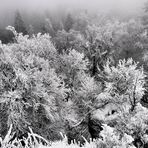
MULTIPOLYGON (((12 27, 9 29, 15 31, 12 27)), ((68 91, 54 69, 56 49, 49 35, 38 34, 29 39, 14 33, 16 43, 1 44, 0 104, 7 119, 7 124, 1 122, 1 126, 12 124, 17 135, 31 126, 52 139, 49 135, 62 120, 60 112, 68 91)), ((57 126, 60 129, 60 124, 57 126)), ((58 135, 56 131, 54 134, 58 135)), ((57 135, 54 138, 58 138, 57 135)))

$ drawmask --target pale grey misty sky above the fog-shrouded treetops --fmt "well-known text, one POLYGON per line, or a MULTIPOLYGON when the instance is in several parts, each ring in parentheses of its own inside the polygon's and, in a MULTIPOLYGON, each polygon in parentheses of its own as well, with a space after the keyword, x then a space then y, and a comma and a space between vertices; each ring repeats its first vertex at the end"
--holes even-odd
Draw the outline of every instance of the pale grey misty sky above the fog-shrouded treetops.
POLYGON ((28 15, 45 12, 44 10, 71 10, 82 8, 92 12, 103 12, 122 16, 140 14, 148 0, 0 0, 0 26, 5 27, 14 21, 14 13, 19 10, 28 15), (35 13, 34 13, 35 12, 35 13), (120 12, 120 13, 119 13, 120 12))

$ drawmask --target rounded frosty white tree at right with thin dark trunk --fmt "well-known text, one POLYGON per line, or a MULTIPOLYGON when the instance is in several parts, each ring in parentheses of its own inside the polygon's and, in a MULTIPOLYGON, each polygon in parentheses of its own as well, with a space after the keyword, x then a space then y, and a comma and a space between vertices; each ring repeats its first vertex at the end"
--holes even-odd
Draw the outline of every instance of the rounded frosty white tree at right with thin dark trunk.
POLYGON ((145 90, 145 74, 143 68, 138 68, 137 64, 128 59, 120 60, 117 66, 111 66, 108 61, 104 66, 104 74, 100 75, 102 78, 105 77, 105 89, 98 99, 115 104, 126 103, 133 111, 145 90))

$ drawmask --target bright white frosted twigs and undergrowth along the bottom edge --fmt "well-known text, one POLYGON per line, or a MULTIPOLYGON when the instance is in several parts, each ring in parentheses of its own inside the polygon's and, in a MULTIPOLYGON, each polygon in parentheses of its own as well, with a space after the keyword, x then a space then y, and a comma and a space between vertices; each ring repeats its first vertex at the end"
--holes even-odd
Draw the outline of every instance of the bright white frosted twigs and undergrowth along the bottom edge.
POLYGON ((14 138, 15 133, 12 132, 12 125, 4 139, 0 138, 0 146, 2 148, 135 148, 132 144, 133 138, 125 134, 122 139, 115 133, 114 128, 103 125, 103 130, 100 133, 101 138, 90 140, 85 138, 85 144, 80 145, 76 141, 68 144, 67 137, 62 135, 63 140, 49 142, 42 136, 35 134, 31 128, 27 138, 14 138))

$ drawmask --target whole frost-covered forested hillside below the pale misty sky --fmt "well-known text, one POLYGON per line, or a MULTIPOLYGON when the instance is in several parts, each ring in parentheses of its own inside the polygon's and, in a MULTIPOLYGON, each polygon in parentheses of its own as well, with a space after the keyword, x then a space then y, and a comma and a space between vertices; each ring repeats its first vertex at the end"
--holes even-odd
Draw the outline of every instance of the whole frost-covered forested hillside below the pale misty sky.
POLYGON ((16 11, 0 30, 0 147, 148 148, 147 9, 32 25, 16 11))

